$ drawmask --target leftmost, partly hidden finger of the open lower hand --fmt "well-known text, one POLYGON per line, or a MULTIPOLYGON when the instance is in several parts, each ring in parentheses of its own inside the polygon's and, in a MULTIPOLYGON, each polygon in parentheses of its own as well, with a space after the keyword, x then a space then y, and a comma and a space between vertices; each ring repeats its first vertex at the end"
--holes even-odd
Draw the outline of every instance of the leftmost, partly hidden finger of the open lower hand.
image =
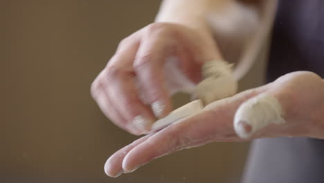
POLYGON ((149 134, 145 137, 137 139, 128 146, 125 146, 124 148, 118 150, 116 153, 114 153, 114 155, 111 155, 111 157, 109 157, 109 159, 107 159, 107 162, 105 163, 105 173, 110 177, 118 177, 120 174, 124 173, 122 167, 124 157, 127 155, 127 153, 129 153, 130 150, 138 146, 138 144, 142 143, 150 136, 151 135, 149 134))

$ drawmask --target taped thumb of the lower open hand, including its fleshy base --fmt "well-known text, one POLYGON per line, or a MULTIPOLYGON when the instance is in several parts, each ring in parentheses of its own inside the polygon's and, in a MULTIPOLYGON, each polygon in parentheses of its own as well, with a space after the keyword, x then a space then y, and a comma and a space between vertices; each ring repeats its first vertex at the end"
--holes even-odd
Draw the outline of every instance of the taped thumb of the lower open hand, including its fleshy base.
POLYGON ((314 121, 316 110, 321 108, 322 94, 316 94, 321 81, 305 71, 278 78, 271 83, 271 90, 240 106, 235 114, 235 131, 242 138, 309 135, 309 128, 303 124, 314 121))

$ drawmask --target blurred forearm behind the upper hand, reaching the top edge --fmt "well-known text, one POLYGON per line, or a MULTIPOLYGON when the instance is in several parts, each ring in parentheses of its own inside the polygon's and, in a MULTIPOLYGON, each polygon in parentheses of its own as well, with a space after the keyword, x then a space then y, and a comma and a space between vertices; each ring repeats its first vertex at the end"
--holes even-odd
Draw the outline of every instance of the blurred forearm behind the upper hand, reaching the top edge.
MULTIPOLYGON (((262 2, 260 0, 241 0, 241 2, 164 0, 156 21, 182 24, 199 31, 201 39, 208 44, 206 46, 210 49, 208 53, 213 53, 215 60, 236 63, 235 78, 239 79, 255 60, 255 52, 258 52, 255 47, 260 47, 255 45, 255 42, 262 42, 260 34, 255 32, 257 27, 260 29, 259 32, 264 34, 267 34, 265 33, 267 30, 264 29, 269 29, 267 26, 262 28, 264 26, 259 24, 261 21, 258 17, 258 9, 262 2), (237 65, 239 62, 240 65, 237 65)), ((264 6, 270 5, 264 4, 264 6)), ((271 8, 269 10, 271 11, 271 8)), ((271 21, 267 21, 269 16, 264 17, 264 25, 271 24, 271 21)))

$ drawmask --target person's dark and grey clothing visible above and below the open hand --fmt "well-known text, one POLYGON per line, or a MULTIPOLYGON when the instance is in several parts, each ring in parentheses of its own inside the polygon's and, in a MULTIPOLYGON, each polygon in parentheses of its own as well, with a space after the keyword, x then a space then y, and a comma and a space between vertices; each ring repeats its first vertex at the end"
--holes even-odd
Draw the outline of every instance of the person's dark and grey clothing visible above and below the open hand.
MULTIPOLYGON (((271 0, 270 0, 271 1, 271 0)), ((279 1, 267 82, 293 71, 324 78, 324 1, 279 1)), ((323 183, 324 141, 309 138, 253 142, 244 183, 323 183)))

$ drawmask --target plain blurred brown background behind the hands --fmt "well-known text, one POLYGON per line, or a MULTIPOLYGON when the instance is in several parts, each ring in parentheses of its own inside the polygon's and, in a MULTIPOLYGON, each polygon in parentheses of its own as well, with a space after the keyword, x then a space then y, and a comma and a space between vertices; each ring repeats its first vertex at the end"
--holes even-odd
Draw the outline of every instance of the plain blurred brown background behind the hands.
MULTIPOLYGON (((89 87, 118 42, 150 24, 160 1, 0 1, 0 182, 238 182, 247 143, 212 143, 107 177, 137 139, 116 128, 89 87)), ((241 83, 260 85, 264 64, 241 83)), ((177 97, 177 103, 183 102, 177 97)))

